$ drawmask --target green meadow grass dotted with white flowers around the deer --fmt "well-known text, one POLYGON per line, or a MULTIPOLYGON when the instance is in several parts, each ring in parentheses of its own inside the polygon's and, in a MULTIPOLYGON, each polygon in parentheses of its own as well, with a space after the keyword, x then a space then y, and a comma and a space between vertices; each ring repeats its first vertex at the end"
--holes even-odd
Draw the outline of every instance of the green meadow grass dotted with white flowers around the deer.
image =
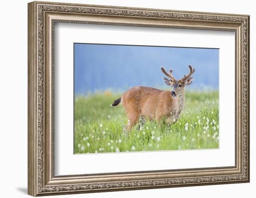
POLYGON ((122 105, 110 107, 120 96, 111 92, 75 96, 74 153, 219 147, 218 91, 186 91, 185 108, 175 124, 146 120, 130 132, 123 130, 127 118, 122 105))

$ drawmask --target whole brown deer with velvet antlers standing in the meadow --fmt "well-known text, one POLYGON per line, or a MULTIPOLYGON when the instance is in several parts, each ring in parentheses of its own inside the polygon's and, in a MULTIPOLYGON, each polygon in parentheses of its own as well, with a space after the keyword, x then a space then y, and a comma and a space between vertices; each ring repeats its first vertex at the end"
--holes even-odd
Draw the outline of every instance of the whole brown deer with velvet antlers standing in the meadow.
POLYGON ((140 116, 150 121, 155 119, 157 123, 164 120, 166 124, 175 123, 180 118, 185 105, 185 87, 194 80, 191 75, 195 72, 195 68, 192 68, 191 64, 188 66, 189 74, 179 80, 173 76, 172 69, 167 72, 164 67, 161 67, 162 72, 168 77, 162 77, 162 79, 171 86, 171 90, 135 86, 110 105, 112 107, 120 103, 123 105, 128 118, 126 131, 130 131, 137 124, 140 116))

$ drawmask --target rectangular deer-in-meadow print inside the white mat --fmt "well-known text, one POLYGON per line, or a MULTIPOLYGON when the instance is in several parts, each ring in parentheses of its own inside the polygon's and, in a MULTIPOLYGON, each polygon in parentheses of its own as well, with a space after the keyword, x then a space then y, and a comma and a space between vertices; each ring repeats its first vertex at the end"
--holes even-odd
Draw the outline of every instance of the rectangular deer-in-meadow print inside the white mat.
POLYGON ((219 49, 74 43, 74 153, 219 147, 219 49))

